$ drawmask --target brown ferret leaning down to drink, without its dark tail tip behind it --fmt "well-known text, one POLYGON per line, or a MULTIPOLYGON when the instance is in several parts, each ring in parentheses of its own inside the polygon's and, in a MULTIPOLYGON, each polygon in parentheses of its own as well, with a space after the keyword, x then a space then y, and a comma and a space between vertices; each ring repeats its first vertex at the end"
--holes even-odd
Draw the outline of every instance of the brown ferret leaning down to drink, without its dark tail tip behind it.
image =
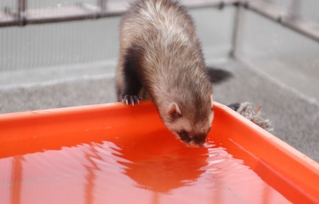
POLYGON ((137 0, 120 23, 118 100, 151 98, 164 125, 187 146, 205 144, 213 87, 186 8, 173 0, 137 0))

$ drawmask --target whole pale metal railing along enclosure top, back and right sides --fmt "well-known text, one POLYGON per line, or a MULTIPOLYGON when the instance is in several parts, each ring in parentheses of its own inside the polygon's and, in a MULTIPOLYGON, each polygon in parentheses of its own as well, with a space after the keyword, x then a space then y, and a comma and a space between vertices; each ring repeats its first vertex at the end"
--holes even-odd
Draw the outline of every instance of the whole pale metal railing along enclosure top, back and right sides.
MULTIPOLYGON (((181 0, 181 2, 188 8, 217 7, 221 9, 228 5, 243 7, 319 42, 319 25, 299 18, 298 0, 292 0, 291 10, 294 12, 265 0, 181 0)), ((96 5, 79 3, 61 8, 27 9, 27 0, 17 0, 16 9, 5 8, 4 12, 0 12, 0 27, 120 16, 126 11, 128 5, 127 1, 97 0, 96 5)))

